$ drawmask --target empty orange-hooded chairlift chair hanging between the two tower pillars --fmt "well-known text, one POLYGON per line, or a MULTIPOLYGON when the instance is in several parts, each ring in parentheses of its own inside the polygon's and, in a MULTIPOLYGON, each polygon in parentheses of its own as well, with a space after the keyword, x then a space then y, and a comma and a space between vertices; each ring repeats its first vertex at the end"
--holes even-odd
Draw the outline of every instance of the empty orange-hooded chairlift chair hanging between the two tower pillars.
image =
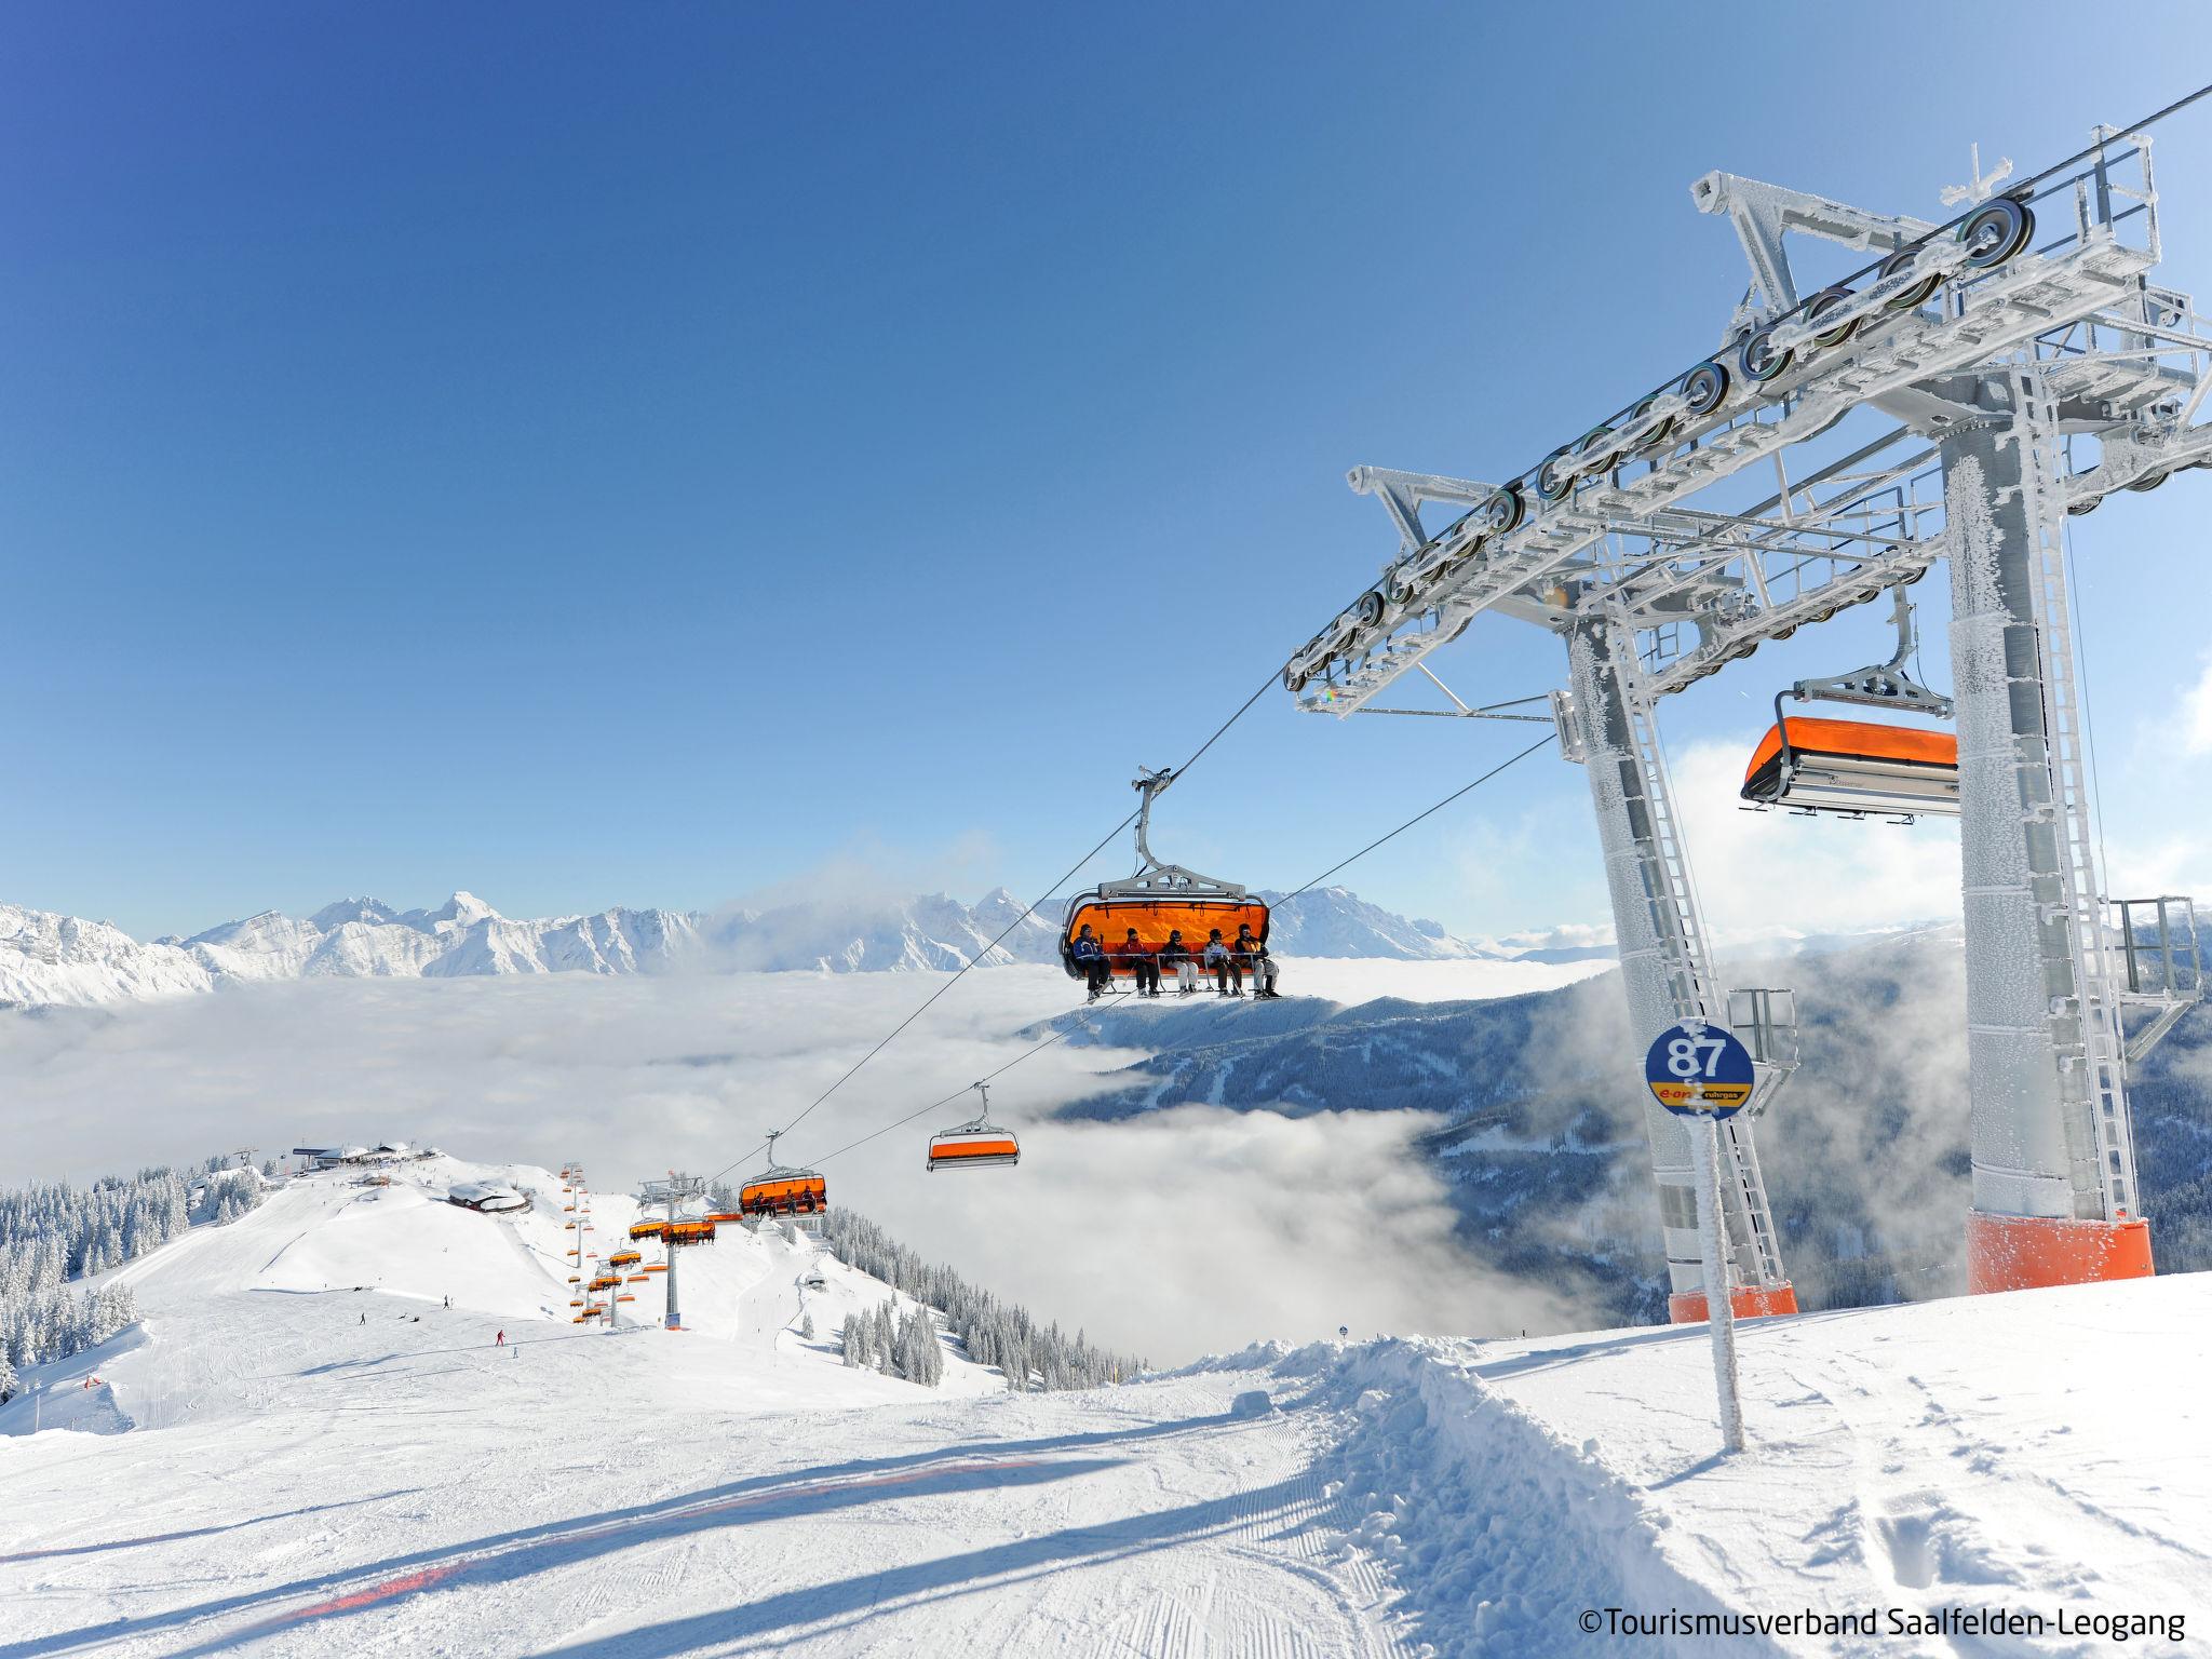
POLYGON ((1913 655, 1913 608, 1896 591, 1898 648, 1885 664, 1832 679, 1801 679, 1774 695, 1774 726, 1752 750, 1743 799, 1754 807, 1834 812, 1845 818, 1882 814, 1911 823, 1922 812, 1958 816, 1958 737, 1924 726, 1787 719, 1783 699, 1902 708, 1922 719, 1951 719, 1951 699, 1905 672, 1913 655))

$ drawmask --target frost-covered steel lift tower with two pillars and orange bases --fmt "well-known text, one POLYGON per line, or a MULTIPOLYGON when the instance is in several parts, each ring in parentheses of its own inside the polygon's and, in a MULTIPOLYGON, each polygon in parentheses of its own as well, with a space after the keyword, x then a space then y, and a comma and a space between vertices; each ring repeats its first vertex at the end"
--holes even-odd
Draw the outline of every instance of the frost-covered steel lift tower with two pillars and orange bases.
MULTIPOLYGON (((2212 425, 2197 420, 2212 338, 2185 294, 2148 283, 2150 139, 2099 128, 2057 168, 2004 192, 2000 179, 1960 192, 1971 206, 1942 226, 1699 179, 1697 206, 1732 219, 1752 265, 1723 349, 1504 482, 1354 469, 1352 487, 1391 513, 1398 553, 1285 668, 1316 712, 1498 717, 1444 688, 1429 653, 1482 611, 1559 635, 1568 675, 1553 717, 1588 770, 1630 1015, 1650 1033, 1728 1018, 1659 699, 1949 560, 1971 1290, 2150 1272, 2126 1073, 2194 1000, 2194 942, 2172 947, 2161 900, 2159 967, 2139 973, 2150 947, 2126 909, 2117 936, 2108 920, 2064 522, 2115 489, 2212 465, 2212 425), (1801 294, 1792 232, 1874 263, 1801 294), (1761 462, 1772 487, 1745 476, 1761 462), (1455 518, 1431 531, 1431 507, 1455 518), (1451 708, 1376 708, 1413 670, 1451 708), (2150 1018, 2130 1042, 2137 1009, 2150 1018)), ((1761 1071, 1754 1110, 1723 1141, 1743 1314, 1794 1307, 1750 1128, 1785 1064, 1761 1071)), ((1688 1135, 1650 1104, 1646 1126, 1672 1314, 1701 1318, 1688 1135)))

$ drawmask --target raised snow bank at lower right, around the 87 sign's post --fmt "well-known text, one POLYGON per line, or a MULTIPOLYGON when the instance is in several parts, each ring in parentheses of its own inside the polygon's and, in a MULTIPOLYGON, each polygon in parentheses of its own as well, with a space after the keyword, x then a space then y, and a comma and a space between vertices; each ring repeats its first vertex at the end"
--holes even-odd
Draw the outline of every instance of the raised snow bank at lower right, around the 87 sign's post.
POLYGON ((1739 1325, 1741 1455, 1703 1327, 1378 1340, 1316 1371, 1352 1422, 1334 1542, 1391 1562, 1440 1655, 1577 1650, 1582 1608, 1770 1621, 1597 1652, 1829 1655, 1801 1615, 1869 1608, 1854 1652, 1920 1652, 1891 1610, 1938 1608, 2044 1619, 2006 1652, 2110 1650, 2097 1619, 2212 1606, 2208 1314, 2212 1274, 2177 1274, 1739 1325))

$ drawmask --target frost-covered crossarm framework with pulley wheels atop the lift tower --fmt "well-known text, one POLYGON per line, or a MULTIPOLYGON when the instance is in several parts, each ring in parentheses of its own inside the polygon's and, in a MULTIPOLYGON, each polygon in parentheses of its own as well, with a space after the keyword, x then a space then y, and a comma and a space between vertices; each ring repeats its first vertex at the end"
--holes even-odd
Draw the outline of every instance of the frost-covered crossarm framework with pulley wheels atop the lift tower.
MULTIPOLYGON (((1975 418, 1949 400, 1951 387, 1991 363, 2048 361, 2079 431, 2150 431, 2159 418, 2172 425, 2183 407, 2194 414, 2205 363, 2194 319, 2185 301, 2141 281, 2157 261, 2148 148, 2121 142, 2079 173, 2046 179, 2033 199, 2044 215, 2039 246, 1975 268, 1964 263, 1969 243, 1920 230, 1918 246, 1863 272, 1829 310, 1807 305, 1770 323, 1761 367, 1774 356, 1785 363, 1767 378, 1745 372, 1752 343, 1741 343, 1615 411, 1438 531, 1425 526, 1420 507, 1467 502, 1480 484, 1354 469, 1352 487, 1391 511, 1400 551, 1374 586, 1290 655, 1283 681, 1298 706, 1358 712, 1484 611, 1559 630, 1577 611, 1619 599, 1626 611, 1615 615, 1639 630, 1672 626, 1679 635, 1681 624, 1697 624, 1697 639, 1679 650, 1639 644, 1661 672, 1655 690, 1679 690, 1761 639, 1840 608, 1829 597, 1878 597, 1940 553, 1940 507, 1909 491, 1885 504, 1878 489, 1856 489, 1865 478, 1849 467, 1865 451, 1785 484, 1763 509, 1714 511, 1692 498, 1754 462, 1785 476, 1787 451, 1863 407, 1900 420, 1893 438, 1911 436, 1924 449, 1929 436, 1975 418), (2141 188, 2115 181, 2128 161, 2139 166, 2141 188), (1829 478, 1836 467, 1845 471, 1829 478), (1807 489, 1816 482, 1834 484, 1818 491, 1825 507, 1807 489), (1655 577, 1666 564, 1674 568, 1655 577), (1860 566, 1878 568, 1869 575, 1860 566), (1776 573, 1792 577, 1783 602, 1772 595, 1776 573), (1812 597, 1796 582, 1803 573, 1836 577, 1834 595, 1812 597), (1670 599, 1670 615, 1657 608, 1661 599, 1670 599), (1677 666, 1683 657, 1690 661, 1677 666)), ((1823 217, 1805 201, 1820 199, 1798 201, 1785 228, 1869 246, 1918 228, 1880 215, 1847 223, 1838 204, 1825 204, 1836 212, 1823 217)), ((1887 465, 1876 460, 1871 473, 1898 493, 1887 465)), ((2081 489, 2088 498, 2101 482, 2081 489)))

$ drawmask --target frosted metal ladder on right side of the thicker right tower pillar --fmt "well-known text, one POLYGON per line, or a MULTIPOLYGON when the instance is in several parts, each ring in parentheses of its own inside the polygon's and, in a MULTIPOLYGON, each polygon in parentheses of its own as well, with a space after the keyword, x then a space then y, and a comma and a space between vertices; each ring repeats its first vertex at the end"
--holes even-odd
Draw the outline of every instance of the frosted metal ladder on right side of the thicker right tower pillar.
MULTIPOLYGON (((2104 1221, 2121 1221, 2137 1212, 2135 1194, 2135 1128, 2128 1113, 2126 1042, 2119 1020, 2112 949, 2104 925, 2104 894, 2097 880, 2097 841, 2086 783, 2086 714, 2081 681, 2075 675, 2073 611, 2066 582, 2064 458, 2059 453, 2057 409, 2044 403, 2033 374, 2013 380, 2020 420, 2015 431, 2024 445, 2022 484, 2028 491, 2028 524, 2035 535, 2035 613, 2044 677, 2044 734, 2051 748, 2051 776, 2057 799, 2051 803, 2059 836, 2064 889, 2051 900, 2066 920, 2066 938, 2075 969, 2075 1013, 2079 1040, 2059 1044, 2062 1073, 2077 1066, 2086 1084, 2088 1135, 2086 1152, 2097 1170, 2104 1221)), ((2068 1091, 2070 1093, 2070 1091, 2068 1091)), ((2077 1135, 2068 1119, 2068 1144, 2077 1135)))

